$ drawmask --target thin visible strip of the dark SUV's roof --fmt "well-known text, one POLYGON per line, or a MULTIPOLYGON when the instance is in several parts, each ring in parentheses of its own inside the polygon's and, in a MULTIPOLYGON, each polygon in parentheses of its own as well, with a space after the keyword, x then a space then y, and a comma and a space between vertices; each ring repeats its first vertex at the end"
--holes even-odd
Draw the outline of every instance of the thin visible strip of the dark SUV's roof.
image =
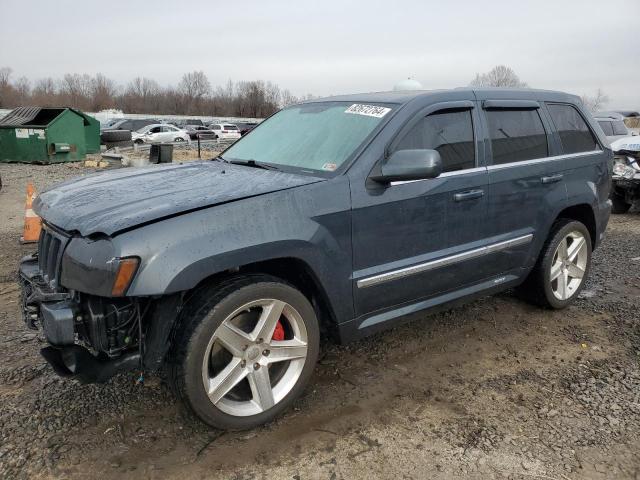
POLYGON ((569 93, 554 91, 554 90, 540 90, 534 88, 453 88, 447 90, 404 90, 404 91, 392 91, 392 92, 372 92, 372 93, 356 93, 350 95, 336 95, 326 98, 318 98, 308 100, 303 103, 314 102, 373 102, 373 103, 396 103, 406 104, 416 98, 428 97, 431 95, 438 95, 443 93, 454 92, 474 92, 479 98, 487 98, 495 95, 498 98, 511 98, 522 100, 539 100, 544 99, 548 101, 577 101, 578 97, 569 93))

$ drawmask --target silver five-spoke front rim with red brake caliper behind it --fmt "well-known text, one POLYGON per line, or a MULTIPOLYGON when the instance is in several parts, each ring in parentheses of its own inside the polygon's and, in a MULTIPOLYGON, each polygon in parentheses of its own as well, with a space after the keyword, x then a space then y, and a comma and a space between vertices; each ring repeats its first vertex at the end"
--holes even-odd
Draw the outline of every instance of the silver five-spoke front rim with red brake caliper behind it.
POLYGON ((286 302, 255 300, 214 332, 202 361, 202 381, 209 400, 224 413, 257 415, 293 389, 306 357, 302 316, 286 302))

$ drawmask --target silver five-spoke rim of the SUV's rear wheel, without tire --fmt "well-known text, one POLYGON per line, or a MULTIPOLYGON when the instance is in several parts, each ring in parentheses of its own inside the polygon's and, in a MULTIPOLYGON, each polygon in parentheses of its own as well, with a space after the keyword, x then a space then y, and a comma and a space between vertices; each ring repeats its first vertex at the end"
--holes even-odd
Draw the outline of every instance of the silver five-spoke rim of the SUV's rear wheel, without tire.
POLYGON ((580 288, 588 261, 587 239, 579 231, 564 237, 553 256, 549 281, 551 291, 558 300, 571 298, 580 288))

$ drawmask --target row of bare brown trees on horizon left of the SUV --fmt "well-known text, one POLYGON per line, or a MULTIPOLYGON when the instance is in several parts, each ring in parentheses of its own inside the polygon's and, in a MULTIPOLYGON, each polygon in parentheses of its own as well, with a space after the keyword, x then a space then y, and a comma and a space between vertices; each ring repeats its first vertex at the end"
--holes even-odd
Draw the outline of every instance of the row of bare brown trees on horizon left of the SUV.
POLYGON ((126 85, 98 73, 68 73, 62 78, 14 78, 0 68, 0 108, 66 106, 87 112, 116 108, 128 113, 264 118, 278 109, 312 98, 296 97, 272 82, 251 80, 212 87, 202 71, 185 73, 177 86, 162 86, 148 77, 126 85))

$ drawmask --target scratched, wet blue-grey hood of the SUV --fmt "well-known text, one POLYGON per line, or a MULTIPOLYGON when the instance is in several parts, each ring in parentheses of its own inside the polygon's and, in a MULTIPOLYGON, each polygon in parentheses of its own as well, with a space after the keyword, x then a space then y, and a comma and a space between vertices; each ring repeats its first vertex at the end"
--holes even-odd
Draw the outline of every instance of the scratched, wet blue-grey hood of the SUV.
POLYGON ((36 198, 47 223, 112 235, 180 213, 321 181, 215 161, 123 168, 60 183, 36 198))

